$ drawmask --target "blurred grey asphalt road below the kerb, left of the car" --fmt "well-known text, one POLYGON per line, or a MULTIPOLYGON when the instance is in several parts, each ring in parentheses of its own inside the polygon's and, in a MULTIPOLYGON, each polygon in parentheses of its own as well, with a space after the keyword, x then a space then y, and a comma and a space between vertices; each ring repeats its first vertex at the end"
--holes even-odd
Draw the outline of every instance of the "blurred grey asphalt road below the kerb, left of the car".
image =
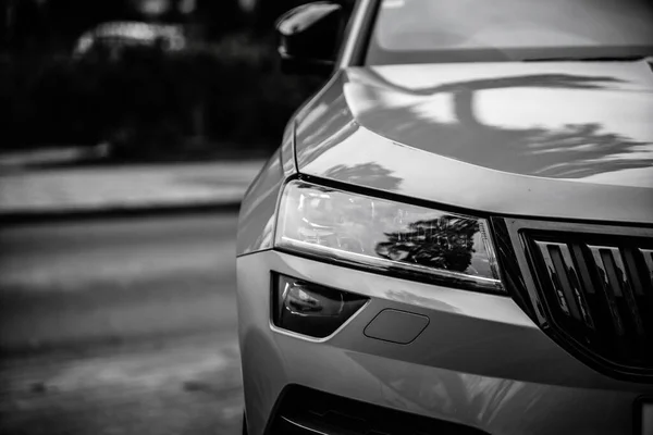
POLYGON ((236 216, 0 228, 0 434, 237 434, 236 216))

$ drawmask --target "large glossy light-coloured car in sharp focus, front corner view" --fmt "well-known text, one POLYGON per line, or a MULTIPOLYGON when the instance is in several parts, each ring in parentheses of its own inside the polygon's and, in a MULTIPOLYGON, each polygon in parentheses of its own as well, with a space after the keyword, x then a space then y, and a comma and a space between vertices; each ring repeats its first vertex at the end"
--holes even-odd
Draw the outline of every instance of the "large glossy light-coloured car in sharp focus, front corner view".
POLYGON ((244 433, 653 434, 653 9, 320 1, 237 231, 244 433))

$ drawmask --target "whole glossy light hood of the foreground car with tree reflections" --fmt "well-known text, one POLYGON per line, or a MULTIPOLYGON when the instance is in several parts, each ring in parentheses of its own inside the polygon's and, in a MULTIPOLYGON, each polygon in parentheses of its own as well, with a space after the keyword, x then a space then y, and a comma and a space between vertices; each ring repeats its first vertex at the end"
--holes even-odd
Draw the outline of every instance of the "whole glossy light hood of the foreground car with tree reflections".
POLYGON ((645 61, 353 67, 296 120, 305 174, 491 213, 653 222, 645 61))

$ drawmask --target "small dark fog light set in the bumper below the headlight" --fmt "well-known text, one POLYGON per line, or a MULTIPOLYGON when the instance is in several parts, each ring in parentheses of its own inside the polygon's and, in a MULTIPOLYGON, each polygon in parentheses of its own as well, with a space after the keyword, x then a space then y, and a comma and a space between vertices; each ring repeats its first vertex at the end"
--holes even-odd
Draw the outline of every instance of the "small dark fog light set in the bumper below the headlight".
POLYGON ((275 275, 272 323, 312 338, 326 338, 369 300, 360 295, 275 275))

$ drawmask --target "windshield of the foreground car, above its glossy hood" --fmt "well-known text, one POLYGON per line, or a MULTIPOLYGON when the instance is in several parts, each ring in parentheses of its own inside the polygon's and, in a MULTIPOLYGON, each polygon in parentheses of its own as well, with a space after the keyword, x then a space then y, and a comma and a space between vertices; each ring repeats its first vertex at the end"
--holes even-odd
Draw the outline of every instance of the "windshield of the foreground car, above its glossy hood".
POLYGON ((653 55, 651 0, 381 0, 368 64, 653 55))

